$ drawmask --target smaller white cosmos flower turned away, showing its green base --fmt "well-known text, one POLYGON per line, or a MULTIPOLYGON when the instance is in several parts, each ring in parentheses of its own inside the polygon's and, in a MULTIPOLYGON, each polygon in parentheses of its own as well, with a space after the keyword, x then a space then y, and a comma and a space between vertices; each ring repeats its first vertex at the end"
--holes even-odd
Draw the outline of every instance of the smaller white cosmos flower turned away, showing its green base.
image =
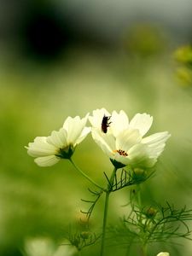
POLYGON ((36 137, 29 143, 27 153, 36 157, 38 166, 53 166, 61 158, 70 159, 75 147, 81 143, 90 132, 86 127, 89 113, 80 119, 68 117, 59 131, 52 131, 49 137, 36 137))

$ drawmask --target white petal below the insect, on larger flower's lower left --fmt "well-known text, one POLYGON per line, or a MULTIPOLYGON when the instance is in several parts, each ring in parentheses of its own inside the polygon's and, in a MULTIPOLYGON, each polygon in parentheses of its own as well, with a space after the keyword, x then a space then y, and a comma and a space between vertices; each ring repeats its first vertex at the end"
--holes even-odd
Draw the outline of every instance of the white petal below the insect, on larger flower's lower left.
POLYGON ((102 131, 92 129, 92 137, 109 157, 113 155, 113 150, 115 149, 115 139, 112 134, 103 135, 102 131))

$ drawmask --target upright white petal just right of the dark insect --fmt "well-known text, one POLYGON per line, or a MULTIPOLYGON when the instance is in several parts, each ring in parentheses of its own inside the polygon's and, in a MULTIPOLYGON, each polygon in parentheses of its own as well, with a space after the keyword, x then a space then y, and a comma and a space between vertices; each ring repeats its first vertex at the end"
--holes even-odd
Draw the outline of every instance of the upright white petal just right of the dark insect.
POLYGON ((128 128, 129 119, 126 113, 123 110, 120 110, 119 113, 113 111, 111 121, 111 130, 114 137, 117 137, 121 131, 124 131, 128 128))

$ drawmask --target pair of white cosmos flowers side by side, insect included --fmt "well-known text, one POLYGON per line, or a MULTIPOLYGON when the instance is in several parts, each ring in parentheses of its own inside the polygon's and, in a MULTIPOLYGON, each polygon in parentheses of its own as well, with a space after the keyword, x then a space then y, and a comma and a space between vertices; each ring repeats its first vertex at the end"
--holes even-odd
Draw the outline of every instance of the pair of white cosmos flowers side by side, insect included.
POLYGON ((70 159, 91 131, 115 167, 152 167, 170 137, 167 131, 143 137, 152 123, 153 117, 147 113, 137 113, 129 121, 123 110, 109 113, 105 108, 96 109, 83 119, 68 117, 59 131, 52 131, 49 137, 36 137, 26 148, 38 166, 52 166, 61 159, 70 159), (85 126, 88 119, 92 129, 85 126))

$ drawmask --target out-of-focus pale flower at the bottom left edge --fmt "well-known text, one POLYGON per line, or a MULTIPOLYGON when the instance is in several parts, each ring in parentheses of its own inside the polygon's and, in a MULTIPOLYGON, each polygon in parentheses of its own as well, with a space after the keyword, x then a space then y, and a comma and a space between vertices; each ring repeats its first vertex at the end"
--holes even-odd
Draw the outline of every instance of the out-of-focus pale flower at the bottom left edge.
POLYGON ((77 248, 69 241, 63 241, 62 246, 56 246, 48 237, 29 238, 26 240, 24 252, 26 256, 73 256, 77 248))

